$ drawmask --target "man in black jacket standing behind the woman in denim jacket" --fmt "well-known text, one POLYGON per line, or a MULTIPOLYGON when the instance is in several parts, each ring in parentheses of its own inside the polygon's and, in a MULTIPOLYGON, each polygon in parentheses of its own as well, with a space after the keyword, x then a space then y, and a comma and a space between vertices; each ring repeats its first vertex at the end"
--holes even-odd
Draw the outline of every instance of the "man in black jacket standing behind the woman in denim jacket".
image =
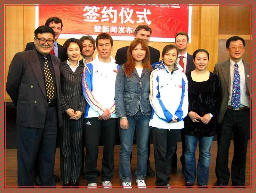
MULTIPOLYGON (((140 25, 136 27, 134 30, 134 38, 141 38, 144 39, 147 44, 149 43, 149 38, 152 33, 152 30, 150 27, 146 25, 140 25)), ((127 50, 129 46, 125 46, 123 48, 119 48, 116 52, 116 63, 119 65, 124 64, 127 61, 127 50)), ((149 48, 149 57, 150 57, 150 63, 156 63, 159 61, 160 58, 160 52, 158 49, 153 48, 151 46, 148 46, 149 48)), ((136 135, 136 134, 135 134, 136 135)), ((153 177, 155 176, 154 170, 150 167, 149 162, 149 156, 150 156, 150 140, 148 142, 148 163, 147 163, 147 176, 153 177)))

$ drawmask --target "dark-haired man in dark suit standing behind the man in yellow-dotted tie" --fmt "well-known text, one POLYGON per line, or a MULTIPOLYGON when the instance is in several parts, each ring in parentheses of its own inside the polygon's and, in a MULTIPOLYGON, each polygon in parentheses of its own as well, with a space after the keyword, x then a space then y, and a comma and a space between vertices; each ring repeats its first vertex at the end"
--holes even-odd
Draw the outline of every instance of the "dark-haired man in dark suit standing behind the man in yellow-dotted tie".
MULTIPOLYGON (((61 19, 57 18, 57 17, 49 18, 46 20, 44 25, 51 27, 56 35, 55 39, 54 39, 53 49, 51 51, 51 54, 60 58, 61 62, 66 61, 68 59, 67 54, 66 54, 65 50, 63 49, 63 46, 61 46, 60 44, 57 43, 57 39, 59 38, 62 27, 63 27, 61 19)), ((34 48, 35 48, 34 42, 29 42, 26 45, 25 51, 32 50, 34 48)))

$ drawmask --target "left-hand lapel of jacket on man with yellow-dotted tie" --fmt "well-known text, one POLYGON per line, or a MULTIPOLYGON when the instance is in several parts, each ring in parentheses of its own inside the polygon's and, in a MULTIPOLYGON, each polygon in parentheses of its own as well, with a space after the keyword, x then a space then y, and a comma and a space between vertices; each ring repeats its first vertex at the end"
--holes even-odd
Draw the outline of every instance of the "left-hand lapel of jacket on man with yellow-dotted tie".
POLYGON ((42 73, 42 67, 40 64, 40 61, 38 59, 36 50, 31 50, 32 54, 30 55, 30 65, 32 68, 32 71, 35 74, 35 77, 38 81, 38 84, 44 94, 44 97, 46 98, 46 91, 45 91, 45 84, 44 84, 44 77, 43 77, 43 73, 42 73))

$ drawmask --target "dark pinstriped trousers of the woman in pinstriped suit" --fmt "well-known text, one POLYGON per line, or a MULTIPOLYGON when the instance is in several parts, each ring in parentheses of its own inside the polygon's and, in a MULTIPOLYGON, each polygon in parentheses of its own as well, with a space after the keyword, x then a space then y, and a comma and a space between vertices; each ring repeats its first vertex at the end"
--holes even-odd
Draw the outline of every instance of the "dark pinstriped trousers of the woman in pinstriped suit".
POLYGON ((63 182, 78 182, 82 168, 83 118, 69 119, 63 115, 60 129, 60 171, 63 182))

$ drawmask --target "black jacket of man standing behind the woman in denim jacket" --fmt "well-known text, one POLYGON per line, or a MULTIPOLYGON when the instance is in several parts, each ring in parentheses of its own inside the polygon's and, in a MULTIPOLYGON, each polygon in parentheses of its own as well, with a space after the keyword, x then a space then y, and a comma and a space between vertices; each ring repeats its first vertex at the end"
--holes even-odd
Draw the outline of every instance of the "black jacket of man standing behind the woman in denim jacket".
MULTIPOLYGON (((116 63, 119 65, 124 64, 127 61, 127 50, 129 46, 125 46, 123 48, 119 48, 116 52, 116 63)), ((150 56, 150 64, 156 63, 159 61, 160 52, 158 49, 152 48, 151 46, 148 46, 149 48, 149 56, 150 56)))

